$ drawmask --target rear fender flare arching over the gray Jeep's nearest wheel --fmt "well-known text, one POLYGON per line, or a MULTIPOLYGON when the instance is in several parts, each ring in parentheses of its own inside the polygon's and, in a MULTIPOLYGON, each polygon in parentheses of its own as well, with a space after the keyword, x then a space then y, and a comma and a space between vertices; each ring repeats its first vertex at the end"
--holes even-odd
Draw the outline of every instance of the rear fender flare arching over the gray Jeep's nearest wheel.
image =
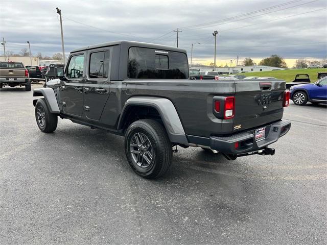
POLYGON ((176 108, 170 100, 153 96, 134 96, 129 98, 126 101, 119 118, 118 129, 122 128, 126 111, 130 106, 146 106, 155 108, 160 114, 170 141, 180 144, 189 143, 176 108))

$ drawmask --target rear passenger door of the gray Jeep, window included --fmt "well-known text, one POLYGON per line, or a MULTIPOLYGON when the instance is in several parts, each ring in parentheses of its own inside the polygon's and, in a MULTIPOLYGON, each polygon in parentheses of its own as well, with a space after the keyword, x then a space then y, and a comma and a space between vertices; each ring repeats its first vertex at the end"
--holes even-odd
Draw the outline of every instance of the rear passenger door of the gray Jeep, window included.
POLYGON ((87 119, 99 120, 110 94, 110 48, 90 51, 84 85, 84 110, 87 119))

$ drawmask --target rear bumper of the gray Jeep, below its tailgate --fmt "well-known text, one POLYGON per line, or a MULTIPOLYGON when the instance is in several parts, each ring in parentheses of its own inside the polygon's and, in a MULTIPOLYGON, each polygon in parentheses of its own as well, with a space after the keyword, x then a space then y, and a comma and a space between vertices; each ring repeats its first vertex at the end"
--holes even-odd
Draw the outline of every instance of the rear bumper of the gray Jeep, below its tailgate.
POLYGON ((266 148, 269 144, 276 142, 278 138, 287 134, 291 128, 291 122, 289 120, 280 120, 265 127, 265 139, 259 142, 255 141, 254 129, 232 136, 212 136, 210 137, 209 146, 213 150, 230 155, 240 155, 243 153, 258 151, 266 148), (237 148, 235 148, 236 143, 238 143, 237 148))

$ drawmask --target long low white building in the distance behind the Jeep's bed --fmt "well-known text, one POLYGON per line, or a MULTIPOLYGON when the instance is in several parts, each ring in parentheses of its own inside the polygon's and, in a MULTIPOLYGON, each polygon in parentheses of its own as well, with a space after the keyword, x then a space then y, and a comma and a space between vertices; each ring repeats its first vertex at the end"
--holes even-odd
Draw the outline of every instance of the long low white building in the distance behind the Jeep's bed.
POLYGON ((255 72, 255 71, 269 71, 269 70, 284 70, 284 68, 266 66, 266 65, 239 65, 239 66, 231 66, 231 67, 200 67, 194 66, 192 69, 199 70, 215 70, 220 74, 237 74, 244 72, 255 72))

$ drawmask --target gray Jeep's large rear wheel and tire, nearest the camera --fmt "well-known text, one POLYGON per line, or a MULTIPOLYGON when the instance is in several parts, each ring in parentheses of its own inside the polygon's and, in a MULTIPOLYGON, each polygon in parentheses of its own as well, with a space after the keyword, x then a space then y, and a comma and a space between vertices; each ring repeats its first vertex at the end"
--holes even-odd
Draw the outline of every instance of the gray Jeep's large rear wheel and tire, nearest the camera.
POLYGON ((125 153, 134 172, 146 179, 164 175, 173 156, 172 144, 164 126, 152 119, 137 120, 128 127, 125 153))

